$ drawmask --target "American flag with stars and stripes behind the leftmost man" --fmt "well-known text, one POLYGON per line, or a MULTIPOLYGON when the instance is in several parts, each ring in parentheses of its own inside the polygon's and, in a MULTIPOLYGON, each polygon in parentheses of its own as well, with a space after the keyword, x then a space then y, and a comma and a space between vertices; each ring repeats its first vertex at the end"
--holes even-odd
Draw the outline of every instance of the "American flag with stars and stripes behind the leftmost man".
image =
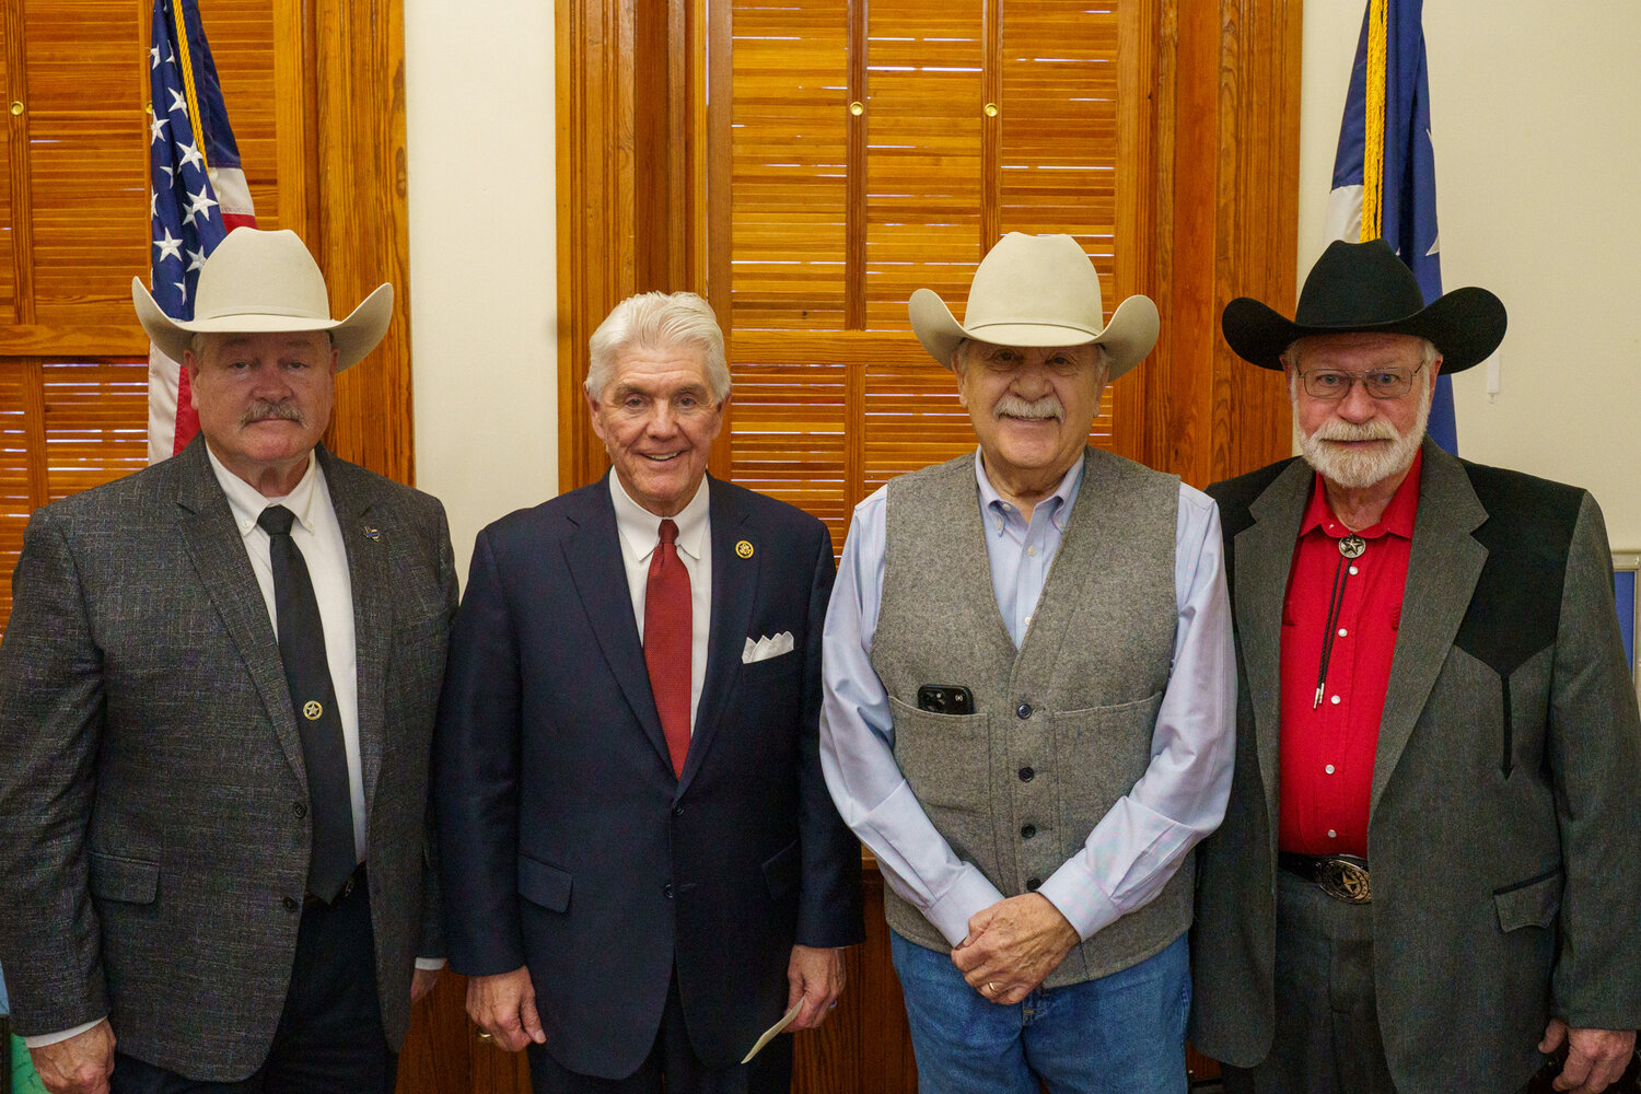
MULTIPOLYGON (((154 0, 148 51, 151 108, 153 294, 166 315, 194 318, 205 256, 231 230, 256 226, 240 148, 195 0, 154 0), (181 31, 181 33, 179 33, 181 31)), ((199 431, 181 362, 148 351, 148 461, 159 463, 199 431)))

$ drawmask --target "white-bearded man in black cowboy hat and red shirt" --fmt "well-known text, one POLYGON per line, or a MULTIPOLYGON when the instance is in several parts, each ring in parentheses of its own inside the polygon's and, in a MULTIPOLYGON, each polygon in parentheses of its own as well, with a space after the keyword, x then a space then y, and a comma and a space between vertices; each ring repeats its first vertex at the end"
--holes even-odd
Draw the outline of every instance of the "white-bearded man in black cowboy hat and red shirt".
POLYGON ((1641 1023, 1641 720, 1580 489, 1424 440, 1485 359, 1483 289, 1423 307, 1334 243, 1295 320, 1223 317, 1287 376, 1303 459, 1209 489, 1237 763, 1203 843, 1191 1040, 1232 1091, 1600 1091, 1641 1023))

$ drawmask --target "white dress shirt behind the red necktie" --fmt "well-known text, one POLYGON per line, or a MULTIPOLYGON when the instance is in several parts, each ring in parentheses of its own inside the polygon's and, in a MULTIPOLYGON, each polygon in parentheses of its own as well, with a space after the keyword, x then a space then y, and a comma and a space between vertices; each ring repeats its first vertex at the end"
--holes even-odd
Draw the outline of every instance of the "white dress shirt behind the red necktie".
MULTIPOLYGON (((707 481, 689 504, 673 517, 678 525, 678 558, 689 572, 689 732, 696 732, 696 709, 707 679, 707 640, 712 636, 712 520, 707 481)), ((643 643, 643 602, 650 590, 650 554, 661 543, 661 518, 627 495, 620 477, 610 472, 610 500, 615 504, 615 530, 620 533, 620 561, 627 568, 627 590, 632 613, 643 643)))

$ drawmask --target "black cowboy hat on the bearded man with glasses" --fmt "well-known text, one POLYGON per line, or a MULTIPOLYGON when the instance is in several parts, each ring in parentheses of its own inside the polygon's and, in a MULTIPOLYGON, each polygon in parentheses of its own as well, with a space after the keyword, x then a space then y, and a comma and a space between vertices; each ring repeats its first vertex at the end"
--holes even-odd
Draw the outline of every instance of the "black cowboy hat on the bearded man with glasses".
POLYGON ((1464 372, 1505 340, 1505 305, 1487 289, 1454 289, 1424 307, 1419 282, 1383 239, 1328 244, 1316 259, 1300 307, 1288 320, 1237 297, 1219 317, 1226 341, 1244 361, 1280 369, 1283 351, 1308 335, 1413 335, 1442 356, 1444 374, 1464 372))

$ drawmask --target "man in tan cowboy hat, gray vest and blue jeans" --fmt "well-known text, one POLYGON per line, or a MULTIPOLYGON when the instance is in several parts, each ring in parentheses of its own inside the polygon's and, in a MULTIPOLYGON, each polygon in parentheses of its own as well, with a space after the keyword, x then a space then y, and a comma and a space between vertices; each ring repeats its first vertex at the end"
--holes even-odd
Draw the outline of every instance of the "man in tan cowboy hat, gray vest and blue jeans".
POLYGON ((921 1089, 1185 1091, 1191 848, 1232 753, 1206 495, 1088 446, 1157 308, 1004 236, 912 330, 980 438, 855 508, 820 756, 888 882, 921 1089), (1108 1084, 1116 1083, 1116 1087, 1108 1084))

